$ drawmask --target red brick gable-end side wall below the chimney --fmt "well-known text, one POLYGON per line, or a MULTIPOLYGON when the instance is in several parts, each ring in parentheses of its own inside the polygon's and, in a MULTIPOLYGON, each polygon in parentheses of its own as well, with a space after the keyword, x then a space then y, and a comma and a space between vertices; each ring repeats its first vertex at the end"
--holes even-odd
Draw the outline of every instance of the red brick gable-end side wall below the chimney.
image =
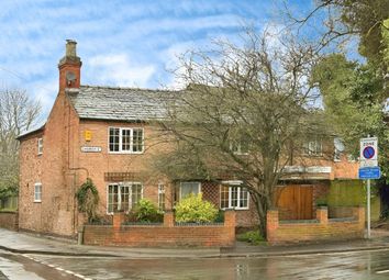
POLYGON ((59 92, 43 134, 21 139, 20 228, 71 236, 75 234, 75 171, 70 170, 78 143, 78 117, 65 92, 59 92), (37 155, 37 138, 43 154, 37 155), (34 183, 42 183, 42 202, 34 202, 34 183))

